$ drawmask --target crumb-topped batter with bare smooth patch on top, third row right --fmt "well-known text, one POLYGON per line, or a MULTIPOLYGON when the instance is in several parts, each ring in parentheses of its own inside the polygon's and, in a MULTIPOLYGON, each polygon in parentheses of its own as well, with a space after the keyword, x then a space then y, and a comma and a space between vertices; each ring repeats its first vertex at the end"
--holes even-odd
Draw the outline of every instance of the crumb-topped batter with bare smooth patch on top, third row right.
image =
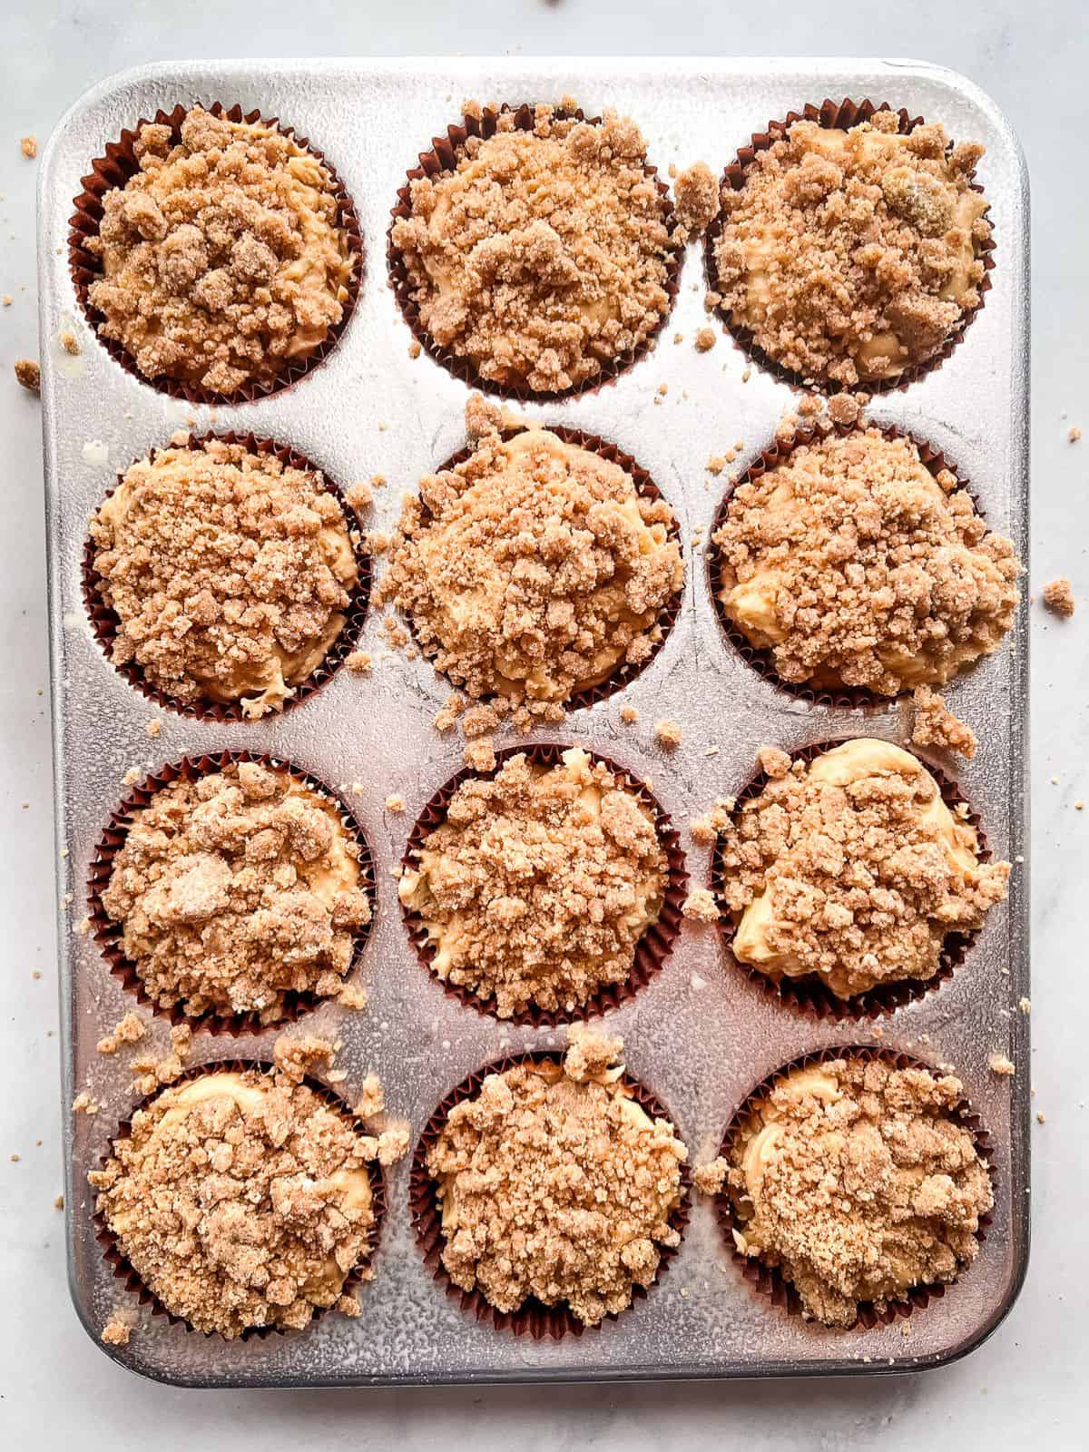
POLYGON ((716 817, 735 957, 839 998, 934 977, 947 934, 976 931, 1006 896, 1009 862, 979 861, 974 829, 890 742, 796 761, 716 817))

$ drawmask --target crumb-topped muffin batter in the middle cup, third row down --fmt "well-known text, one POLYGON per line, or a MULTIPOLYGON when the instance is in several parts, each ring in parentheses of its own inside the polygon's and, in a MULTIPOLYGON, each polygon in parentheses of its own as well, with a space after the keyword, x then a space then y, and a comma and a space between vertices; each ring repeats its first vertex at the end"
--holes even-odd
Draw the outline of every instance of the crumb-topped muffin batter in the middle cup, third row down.
POLYGON ((571 748, 555 767, 520 754, 463 781, 398 892, 427 926, 434 971, 510 1018, 572 1012, 626 982, 666 880, 650 812, 571 748))

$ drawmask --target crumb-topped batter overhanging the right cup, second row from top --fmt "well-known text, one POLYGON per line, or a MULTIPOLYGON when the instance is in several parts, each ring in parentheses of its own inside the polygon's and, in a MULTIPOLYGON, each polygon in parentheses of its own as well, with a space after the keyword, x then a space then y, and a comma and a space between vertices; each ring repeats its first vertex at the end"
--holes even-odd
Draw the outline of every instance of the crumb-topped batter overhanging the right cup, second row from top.
POLYGON ((896 696, 948 681, 1013 623, 1021 563, 948 470, 877 428, 803 443, 735 491, 720 600, 784 681, 896 696))

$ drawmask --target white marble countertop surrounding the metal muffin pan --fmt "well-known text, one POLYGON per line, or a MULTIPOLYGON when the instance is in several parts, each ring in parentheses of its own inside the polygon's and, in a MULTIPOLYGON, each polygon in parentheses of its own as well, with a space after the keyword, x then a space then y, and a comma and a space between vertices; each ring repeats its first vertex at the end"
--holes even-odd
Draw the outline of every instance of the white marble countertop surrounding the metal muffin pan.
POLYGON ((963 6, 944 0, 847 7, 783 0, 743 19, 720 3, 655 0, 436 0, 296 6, 221 0, 215 20, 148 0, 39 0, 4 16, 4 134, 0 136, 0 439, 4 531, 0 556, 0 1244, 9 1297, 0 1324, 0 1432, 13 1446, 80 1439, 89 1452, 183 1439, 208 1452, 240 1433, 276 1446, 402 1446, 437 1439, 479 1452, 531 1448, 762 1448, 1083 1445, 1082 1372, 1089 1337, 1074 1286, 1089 1269, 1089 1194, 1080 989, 1089 938, 1089 203, 1074 136, 1082 123, 1089 30, 1080 4, 963 6), (950 33, 955 29, 955 35, 950 33), (922 1376, 876 1381, 466 1388, 460 1391, 193 1392, 138 1381, 100 1355, 65 1286, 57 1092, 55 892, 48 730, 39 408, 12 379, 36 356, 36 167, 20 135, 44 141, 93 81, 170 57, 325 54, 691 54, 902 55, 964 71, 1018 131, 1032 184, 1034 529, 1029 588, 1067 574, 1079 595, 1070 623, 1032 611, 1034 816, 1032 1083, 1047 1124, 1034 1130, 1034 1247, 1018 1305, 967 1361, 922 1376), (1086 440, 1067 443, 1072 424, 1086 440), (15 666, 15 668, 13 668, 15 666), (1057 780, 1054 780, 1057 778, 1057 780), (1076 947, 1073 947, 1076 945, 1076 947), (1072 951, 1073 947, 1073 951, 1072 951), (17 1159, 15 1159, 17 1156, 17 1159), (13 1294, 12 1294, 13 1292, 13 1294), (1079 1430, 1080 1427, 1080 1430, 1079 1430))

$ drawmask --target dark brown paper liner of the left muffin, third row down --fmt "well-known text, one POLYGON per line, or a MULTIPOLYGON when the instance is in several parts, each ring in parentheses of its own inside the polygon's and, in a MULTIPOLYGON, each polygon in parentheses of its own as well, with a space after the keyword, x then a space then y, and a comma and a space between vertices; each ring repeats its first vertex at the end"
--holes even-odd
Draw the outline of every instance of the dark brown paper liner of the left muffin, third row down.
POLYGON ((166 1018, 171 1024, 187 1024, 193 1032, 199 1032, 203 1028, 209 1034, 229 1034, 231 1038, 238 1038, 242 1034, 261 1034, 270 1029, 273 1032, 280 1032, 287 1024, 293 1024, 298 1018, 302 1018, 312 1009, 321 1008, 322 1003, 333 1000, 319 998, 317 993, 289 992, 285 995, 283 1016, 267 1024, 261 1022, 261 1016, 257 1012, 221 1013, 215 1009, 206 1009, 203 1013, 186 1013, 179 1003, 173 1003, 167 1008, 148 995, 144 987, 144 980, 139 976, 139 968, 135 963, 125 957, 122 925, 109 916, 103 906, 102 894, 109 886, 110 876, 113 874, 115 858, 125 845, 129 828, 138 819, 142 809, 147 807, 152 797, 157 796, 157 793, 163 791, 164 787, 171 787, 176 781, 196 781, 199 777, 211 775, 216 771, 222 771, 224 767, 238 765, 244 761, 253 761, 258 767, 285 771, 287 775, 293 777, 295 781, 302 783, 324 802, 328 802, 333 807, 335 807, 343 826, 351 833, 359 845, 360 886, 363 887, 367 902, 370 903, 370 922, 366 922, 354 935, 353 964, 344 976, 344 983, 347 983, 353 970, 359 966, 363 945, 367 941, 370 928, 375 922, 375 912, 378 910, 375 860, 370 855, 370 847, 363 828, 359 825, 356 816, 346 806, 346 803, 341 802, 341 799, 331 791, 324 781, 319 781, 317 777, 309 775, 309 772, 299 770, 289 761, 282 761, 277 756, 253 751, 221 751, 213 756, 183 756, 182 761, 160 767, 158 771, 148 775, 138 787, 134 787, 113 809, 113 812, 110 812, 109 822, 99 838, 99 845, 94 849, 94 857, 91 858, 90 870, 87 873, 87 912, 91 937, 102 950, 102 955, 106 960, 113 977, 118 979, 129 993, 132 993, 142 1008, 150 1009, 158 1018, 166 1018))

